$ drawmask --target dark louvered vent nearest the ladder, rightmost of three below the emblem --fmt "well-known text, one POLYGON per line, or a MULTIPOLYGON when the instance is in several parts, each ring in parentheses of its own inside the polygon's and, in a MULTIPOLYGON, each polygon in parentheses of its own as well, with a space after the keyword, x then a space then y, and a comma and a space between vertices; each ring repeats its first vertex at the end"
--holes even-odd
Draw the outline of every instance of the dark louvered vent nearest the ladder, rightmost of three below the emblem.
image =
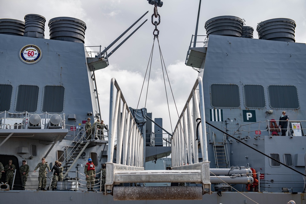
POLYGON ((64 109, 65 87, 45 86, 43 92, 43 112, 61 113, 64 109))

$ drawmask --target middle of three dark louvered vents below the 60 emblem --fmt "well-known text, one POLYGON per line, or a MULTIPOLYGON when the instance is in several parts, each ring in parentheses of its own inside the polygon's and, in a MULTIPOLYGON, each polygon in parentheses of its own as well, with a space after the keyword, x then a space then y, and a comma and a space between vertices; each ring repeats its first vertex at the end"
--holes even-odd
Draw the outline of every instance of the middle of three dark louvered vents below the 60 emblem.
POLYGON ((19 85, 16 111, 34 113, 37 110, 39 87, 35 85, 19 85))

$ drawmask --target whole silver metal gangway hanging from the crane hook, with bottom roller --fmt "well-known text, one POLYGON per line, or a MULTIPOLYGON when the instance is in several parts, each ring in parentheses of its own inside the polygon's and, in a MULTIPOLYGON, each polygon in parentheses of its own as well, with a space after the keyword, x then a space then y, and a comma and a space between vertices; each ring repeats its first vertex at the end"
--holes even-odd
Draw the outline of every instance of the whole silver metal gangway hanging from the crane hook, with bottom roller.
MULTIPOLYGON (((110 190, 114 200, 200 200, 204 193, 211 193, 206 129, 200 121, 205 121, 205 116, 203 83, 202 78, 198 77, 171 138, 172 169, 144 170, 144 138, 134 121, 117 81, 113 78, 110 87, 110 135, 105 189, 110 190), (196 93, 197 87, 199 87, 198 93, 196 93), (114 98, 115 91, 116 97, 114 98), (197 94, 199 94, 199 100, 197 94), (190 106, 191 100, 192 108, 190 106), (117 144, 115 145, 116 137, 117 144), (202 152, 202 159, 200 160, 202 161, 199 160, 198 156, 199 142, 202 152), (114 155, 115 146, 116 155, 114 155), (116 162, 114 157, 116 157, 116 162), (122 183, 161 182, 192 182, 202 185, 118 186, 122 183)), ((108 194, 107 191, 105 191, 105 194, 108 194)))

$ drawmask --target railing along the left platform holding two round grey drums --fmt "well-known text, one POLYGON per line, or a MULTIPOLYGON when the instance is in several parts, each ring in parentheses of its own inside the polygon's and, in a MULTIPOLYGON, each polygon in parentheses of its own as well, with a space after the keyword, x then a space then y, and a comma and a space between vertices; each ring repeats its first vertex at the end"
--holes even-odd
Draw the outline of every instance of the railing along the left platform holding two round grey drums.
POLYGON ((65 113, 56 114, 61 117, 61 122, 58 125, 50 124, 50 117, 55 114, 50 113, 41 113, 41 114, 32 114, 24 111, 22 113, 9 113, 7 111, 0 113, 0 129, 26 129, 26 128, 39 128, 39 129, 48 129, 48 128, 65 128, 65 113), (30 124, 30 117, 32 115, 39 115, 40 122, 37 125, 30 124), (8 117, 9 116, 9 117, 8 117), (24 116, 24 117, 22 117, 24 116))

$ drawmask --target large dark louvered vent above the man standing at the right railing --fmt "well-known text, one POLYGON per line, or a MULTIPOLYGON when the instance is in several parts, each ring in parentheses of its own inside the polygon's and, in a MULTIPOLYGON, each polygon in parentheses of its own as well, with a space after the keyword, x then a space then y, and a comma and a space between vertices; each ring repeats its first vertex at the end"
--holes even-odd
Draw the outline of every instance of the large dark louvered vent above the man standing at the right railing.
POLYGON ((268 87, 271 108, 298 109, 300 108, 297 87, 288 85, 270 85, 268 87))

